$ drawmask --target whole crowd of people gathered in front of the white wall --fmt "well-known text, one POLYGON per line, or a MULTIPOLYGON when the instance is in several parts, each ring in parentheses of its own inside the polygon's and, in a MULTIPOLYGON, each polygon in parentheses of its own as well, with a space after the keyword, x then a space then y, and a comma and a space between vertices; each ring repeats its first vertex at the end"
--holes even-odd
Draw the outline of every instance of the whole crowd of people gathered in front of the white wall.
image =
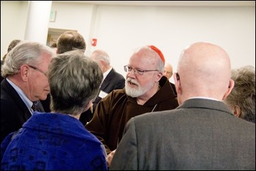
POLYGON ((1 170, 255 170, 255 67, 232 69, 219 45, 196 42, 173 73, 143 45, 124 78, 105 50, 85 51, 75 31, 51 47, 10 43, 1 170))

